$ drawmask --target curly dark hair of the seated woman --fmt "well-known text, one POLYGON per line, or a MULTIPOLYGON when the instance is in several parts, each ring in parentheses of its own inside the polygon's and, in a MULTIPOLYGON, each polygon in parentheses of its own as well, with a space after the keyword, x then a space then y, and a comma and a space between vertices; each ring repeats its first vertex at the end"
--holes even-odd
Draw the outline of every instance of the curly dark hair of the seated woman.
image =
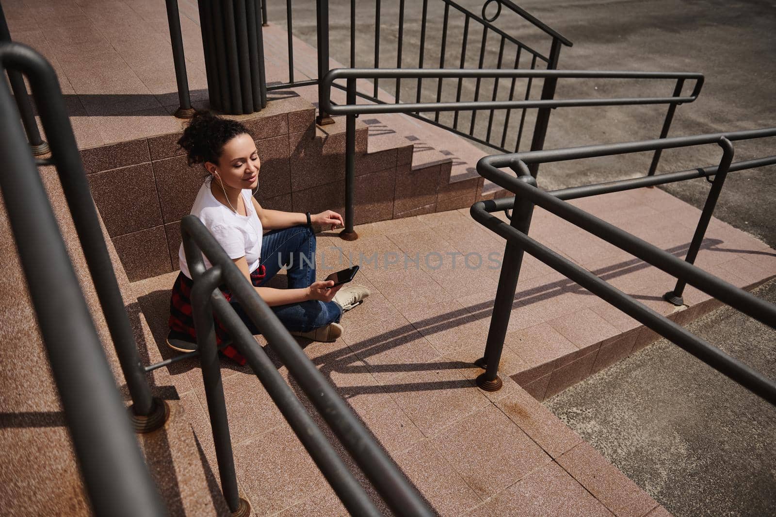
POLYGON ((186 151, 189 167, 197 163, 218 163, 223 145, 248 129, 237 120, 222 119, 213 113, 197 112, 178 139, 178 145, 186 151))

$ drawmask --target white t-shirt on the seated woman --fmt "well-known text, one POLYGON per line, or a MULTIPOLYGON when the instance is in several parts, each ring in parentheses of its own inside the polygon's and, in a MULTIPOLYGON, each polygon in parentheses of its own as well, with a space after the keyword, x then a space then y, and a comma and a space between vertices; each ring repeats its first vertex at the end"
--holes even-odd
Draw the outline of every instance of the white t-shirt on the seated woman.
MULTIPOLYGON (((229 206, 221 204, 213 197, 210 186, 203 183, 194 200, 191 214, 199 217, 230 259, 244 256, 245 261, 248 262, 248 271, 254 272, 258 268, 259 257, 262 254, 262 221, 258 219, 251 201, 251 190, 243 189, 242 195, 247 216, 234 213, 229 206)), ((205 267, 210 269, 211 264, 207 257, 203 256, 203 258, 205 267)), ((178 250, 178 261, 183 274, 191 278, 182 243, 178 250)))

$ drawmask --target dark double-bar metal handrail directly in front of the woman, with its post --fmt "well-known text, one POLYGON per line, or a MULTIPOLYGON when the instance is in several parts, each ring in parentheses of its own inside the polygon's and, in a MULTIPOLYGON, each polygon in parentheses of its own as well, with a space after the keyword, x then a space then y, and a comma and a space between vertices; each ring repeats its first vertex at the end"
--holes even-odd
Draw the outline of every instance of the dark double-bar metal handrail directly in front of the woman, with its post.
POLYGON ((355 481, 352 473, 272 366, 264 350, 223 298, 218 289, 222 284, 234 293, 235 299, 239 300, 241 307, 265 336, 269 346, 286 364, 289 373, 294 376, 303 392, 393 512, 397 515, 434 515, 421 494, 407 481, 407 477, 404 477, 401 470, 372 438, 348 404, 300 349, 296 340, 259 297, 254 286, 237 269, 202 222, 195 216, 184 217, 181 221, 181 233, 186 261, 194 280, 192 306, 197 344, 221 483, 230 509, 237 512, 241 507, 241 500, 237 494, 226 404, 220 381, 213 309, 230 331, 234 345, 248 359, 248 365, 265 385, 268 394, 348 511, 353 515, 379 515, 363 488, 355 481), (213 264, 211 269, 205 269, 203 254, 213 264))

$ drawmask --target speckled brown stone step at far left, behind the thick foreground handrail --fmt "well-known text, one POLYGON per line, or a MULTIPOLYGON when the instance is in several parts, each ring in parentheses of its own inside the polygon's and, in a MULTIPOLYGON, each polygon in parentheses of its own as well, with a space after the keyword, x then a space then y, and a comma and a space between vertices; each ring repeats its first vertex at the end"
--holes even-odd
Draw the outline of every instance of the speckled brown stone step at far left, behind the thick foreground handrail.
MULTIPOLYGON (((53 168, 41 168, 41 176, 50 200, 53 200, 57 222, 116 383, 129 404, 126 383, 64 203, 61 185, 53 168)), ((2 342, 19 345, 3 346, 0 352, 0 363, 4 365, 0 369, 0 413, 4 428, 0 432, 3 512, 8 515, 91 515, 68 429, 64 425, 57 388, 47 367, 43 342, 26 295, 26 281, 14 250, 9 222, 5 210, 0 213, 0 242, 9 259, 3 266, 0 310, 15 315, 5 318, 4 324, 0 325, 0 335, 2 342)), ((151 360, 149 354, 152 355, 156 347, 147 346, 148 326, 140 314, 137 298, 129 296, 129 281, 116 250, 110 242, 108 245, 140 356, 147 364, 151 360)), ((138 435, 138 442, 169 515, 229 515, 213 472, 203 461, 178 400, 181 391, 163 371, 157 370, 148 378, 154 395, 168 401, 171 416, 164 428, 138 435)))

